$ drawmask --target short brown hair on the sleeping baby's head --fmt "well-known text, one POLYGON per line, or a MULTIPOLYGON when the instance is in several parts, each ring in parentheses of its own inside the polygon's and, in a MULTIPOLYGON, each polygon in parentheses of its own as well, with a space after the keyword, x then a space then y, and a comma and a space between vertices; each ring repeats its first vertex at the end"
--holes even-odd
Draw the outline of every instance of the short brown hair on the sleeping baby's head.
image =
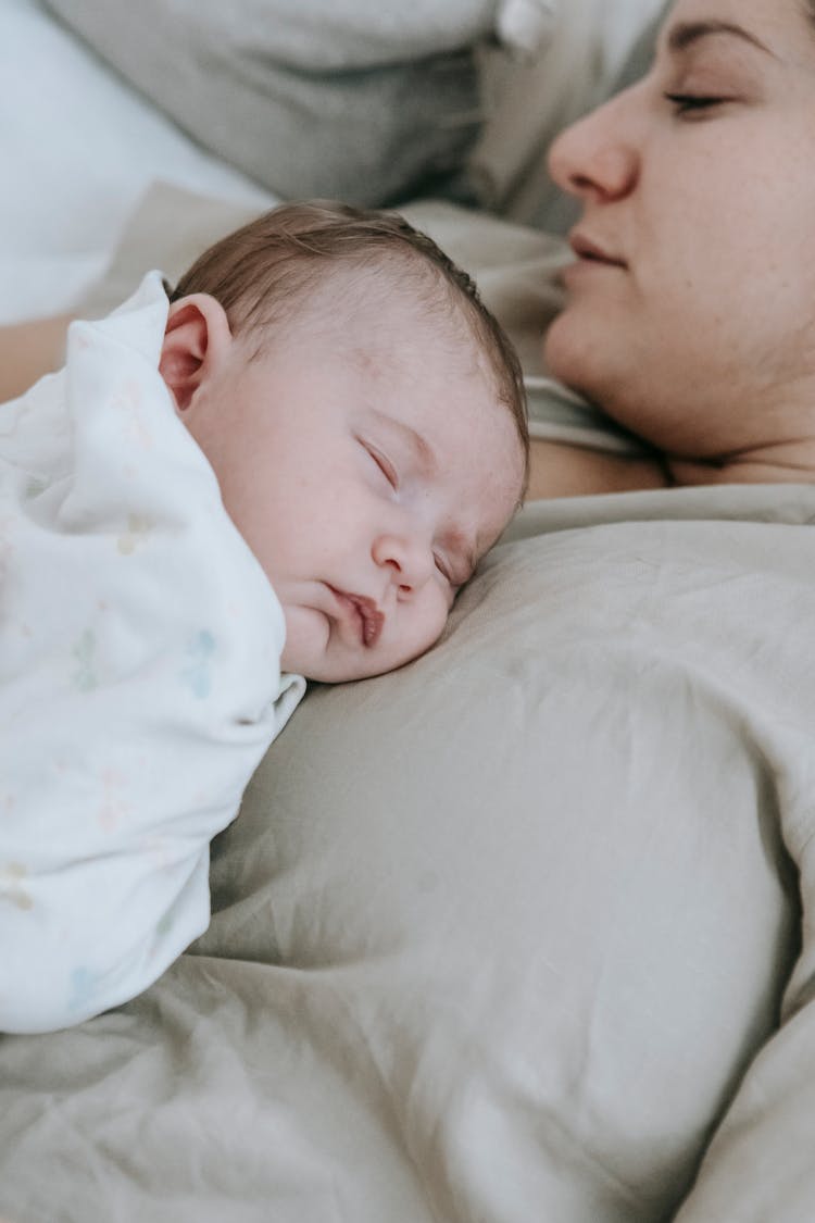
POLYGON ((384 256, 400 273, 397 283, 409 278, 423 306, 461 307, 489 360, 499 399, 516 423, 528 472, 527 401, 514 349, 473 279, 397 213, 331 201, 281 204, 204 251, 170 300, 209 294, 226 311, 233 334, 258 331, 291 318, 298 301, 325 285, 326 259, 351 269, 381 270, 384 256))

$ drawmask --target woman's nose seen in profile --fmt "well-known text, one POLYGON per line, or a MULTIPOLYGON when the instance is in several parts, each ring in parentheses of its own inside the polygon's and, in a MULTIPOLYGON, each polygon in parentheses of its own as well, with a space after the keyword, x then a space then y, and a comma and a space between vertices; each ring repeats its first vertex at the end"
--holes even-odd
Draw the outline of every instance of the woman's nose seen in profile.
POLYGON ((584 202, 626 196, 639 174, 639 152, 618 94, 562 132, 549 150, 549 172, 563 191, 584 202))

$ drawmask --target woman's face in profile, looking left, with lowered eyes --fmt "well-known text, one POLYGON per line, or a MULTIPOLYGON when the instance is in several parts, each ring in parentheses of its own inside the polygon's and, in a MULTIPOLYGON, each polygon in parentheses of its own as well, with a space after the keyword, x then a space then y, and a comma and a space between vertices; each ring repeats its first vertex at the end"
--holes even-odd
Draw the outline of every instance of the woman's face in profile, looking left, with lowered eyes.
POLYGON ((648 77, 565 132, 551 170, 583 203, 546 340, 560 378, 700 457, 755 445, 782 401, 813 402, 806 0, 677 0, 648 77))

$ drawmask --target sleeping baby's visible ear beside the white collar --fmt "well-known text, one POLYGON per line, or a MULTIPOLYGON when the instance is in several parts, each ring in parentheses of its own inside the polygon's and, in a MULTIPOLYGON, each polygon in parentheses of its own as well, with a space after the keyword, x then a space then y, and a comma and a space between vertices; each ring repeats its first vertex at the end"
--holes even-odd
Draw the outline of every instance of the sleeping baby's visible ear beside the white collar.
POLYGON ((170 306, 159 373, 183 412, 232 344, 226 311, 209 294, 191 294, 170 306))

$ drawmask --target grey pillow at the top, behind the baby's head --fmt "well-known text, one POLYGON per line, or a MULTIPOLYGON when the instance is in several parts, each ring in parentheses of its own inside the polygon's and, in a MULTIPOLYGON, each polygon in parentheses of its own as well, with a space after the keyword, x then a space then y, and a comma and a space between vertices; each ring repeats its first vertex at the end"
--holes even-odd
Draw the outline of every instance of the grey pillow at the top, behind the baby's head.
MULTIPOLYGON (((283 198, 461 192, 494 0, 45 0, 204 148, 283 198)), ((543 20, 543 18, 541 18, 543 20)))

